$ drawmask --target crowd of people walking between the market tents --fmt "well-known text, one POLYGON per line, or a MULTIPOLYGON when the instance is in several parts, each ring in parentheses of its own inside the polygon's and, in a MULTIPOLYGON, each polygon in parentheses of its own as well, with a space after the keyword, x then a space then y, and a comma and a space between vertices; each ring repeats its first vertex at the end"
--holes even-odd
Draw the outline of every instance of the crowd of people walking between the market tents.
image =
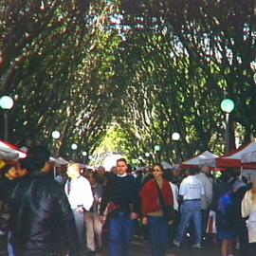
POLYGON ((256 253, 255 178, 160 163, 135 172, 125 158, 111 172, 70 163, 54 176, 49 159, 45 147, 32 147, 0 171, 1 256, 94 255, 105 233, 111 256, 130 255, 135 233, 153 256, 191 241, 194 249, 220 245, 222 256, 238 245, 240 256, 256 253))

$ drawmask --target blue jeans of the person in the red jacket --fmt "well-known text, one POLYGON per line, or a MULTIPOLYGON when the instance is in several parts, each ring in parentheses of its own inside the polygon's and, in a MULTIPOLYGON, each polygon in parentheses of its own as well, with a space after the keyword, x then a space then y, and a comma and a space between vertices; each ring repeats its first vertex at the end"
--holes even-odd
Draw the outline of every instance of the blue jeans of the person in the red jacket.
POLYGON ((168 246, 168 224, 163 217, 149 216, 152 256, 164 256, 168 246))

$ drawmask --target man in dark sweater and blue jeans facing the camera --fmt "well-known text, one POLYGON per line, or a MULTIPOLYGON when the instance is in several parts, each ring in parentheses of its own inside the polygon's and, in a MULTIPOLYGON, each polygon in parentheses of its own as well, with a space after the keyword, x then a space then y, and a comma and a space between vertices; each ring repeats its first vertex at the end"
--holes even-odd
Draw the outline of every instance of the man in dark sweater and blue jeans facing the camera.
POLYGON ((104 210, 108 204, 115 210, 110 214, 110 255, 126 256, 133 238, 134 220, 138 211, 138 191, 133 175, 127 174, 126 159, 117 161, 117 174, 113 174, 102 195, 100 220, 104 222, 104 210))

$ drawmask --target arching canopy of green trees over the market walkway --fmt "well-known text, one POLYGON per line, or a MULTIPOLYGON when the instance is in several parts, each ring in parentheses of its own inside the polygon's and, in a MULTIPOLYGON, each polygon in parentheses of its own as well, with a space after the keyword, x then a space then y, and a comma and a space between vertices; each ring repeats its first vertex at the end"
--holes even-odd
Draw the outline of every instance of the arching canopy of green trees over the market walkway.
POLYGON ((172 161, 223 153, 225 98, 235 102, 232 146, 255 137, 255 1, 21 3, 0 1, 12 142, 44 142, 61 155, 76 142, 92 154, 114 125, 131 159, 156 144, 172 161))

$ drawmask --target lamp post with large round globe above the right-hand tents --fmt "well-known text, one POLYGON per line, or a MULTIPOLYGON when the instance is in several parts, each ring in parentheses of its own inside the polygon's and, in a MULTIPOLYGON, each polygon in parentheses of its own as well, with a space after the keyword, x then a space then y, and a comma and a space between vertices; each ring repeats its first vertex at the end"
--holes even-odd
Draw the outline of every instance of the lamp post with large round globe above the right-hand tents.
POLYGON ((229 153, 230 151, 230 124, 229 124, 229 115, 234 109, 234 101, 230 99, 225 99, 221 101, 221 109, 225 112, 225 153, 229 153))

